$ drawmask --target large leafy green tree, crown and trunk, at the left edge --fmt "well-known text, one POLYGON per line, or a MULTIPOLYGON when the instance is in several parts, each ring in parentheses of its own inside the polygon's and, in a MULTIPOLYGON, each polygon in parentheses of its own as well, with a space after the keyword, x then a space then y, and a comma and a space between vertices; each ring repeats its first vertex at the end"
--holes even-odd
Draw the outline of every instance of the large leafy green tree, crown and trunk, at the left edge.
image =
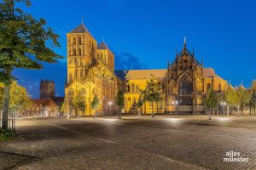
MULTIPOLYGON (((40 61, 55 62, 61 56, 46 44, 59 47, 58 38, 44 19, 17 8, 21 0, 3 0, 0 3, 0 79, 4 83, 2 128, 8 128, 9 90, 15 68, 40 69, 40 61)), ((23 0, 30 6, 30 0, 23 0)))

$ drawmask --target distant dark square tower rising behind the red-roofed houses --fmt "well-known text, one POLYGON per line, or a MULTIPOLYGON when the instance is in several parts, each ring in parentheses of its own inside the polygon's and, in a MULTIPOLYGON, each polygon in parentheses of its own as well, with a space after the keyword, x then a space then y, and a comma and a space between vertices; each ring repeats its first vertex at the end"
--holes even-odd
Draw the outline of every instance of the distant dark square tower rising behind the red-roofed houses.
POLYGON ((49 99, 55 97, 55 82, 44 81, 40 82, 40 99, 49 99))

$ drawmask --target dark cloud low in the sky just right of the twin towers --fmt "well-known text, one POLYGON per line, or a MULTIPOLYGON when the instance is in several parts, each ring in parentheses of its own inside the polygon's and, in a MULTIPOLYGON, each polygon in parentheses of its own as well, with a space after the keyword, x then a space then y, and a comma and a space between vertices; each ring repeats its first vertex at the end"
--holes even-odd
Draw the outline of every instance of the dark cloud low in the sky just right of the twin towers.
POLYGON ((133 54, 122 52, 114 53, 114 67, 115 70, 137 70, 148 69, 148 66, 143 64, 137 56, 133 54))

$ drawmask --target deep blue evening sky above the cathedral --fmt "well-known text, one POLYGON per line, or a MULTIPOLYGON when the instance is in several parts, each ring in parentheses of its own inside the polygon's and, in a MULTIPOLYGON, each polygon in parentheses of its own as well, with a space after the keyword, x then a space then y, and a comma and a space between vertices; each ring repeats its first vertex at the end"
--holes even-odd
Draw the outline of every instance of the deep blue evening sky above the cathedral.
MULTIPOLYGON (((67 56, 66 34, 84 24, 103 38, 116 55, 116 69, 166 69, 176 50, 195 49, 195 57, 212 67, 220 77, 236 86, 249 87, 256 78, 256 1, 171 1, 171 0, 32 0, 24 8, 36 18, 43 17, 61 36, 67 56)), ((33 98, 38 98, 41 78, 55 80, 56 94, 64 95, 66 59, 45 64, 42 71, 16 70, 15 75, 33 98)))

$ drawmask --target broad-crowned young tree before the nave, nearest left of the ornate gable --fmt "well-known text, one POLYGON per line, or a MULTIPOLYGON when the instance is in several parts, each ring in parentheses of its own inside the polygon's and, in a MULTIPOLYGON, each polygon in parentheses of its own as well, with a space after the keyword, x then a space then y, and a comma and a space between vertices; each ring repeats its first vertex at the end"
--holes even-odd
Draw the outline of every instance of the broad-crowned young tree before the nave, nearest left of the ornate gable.
POLYGON ((150 80, 147 82, 146 88, 141 92, 141 95, 144 96, 145 101, 148 101, 152 107, 152 117, 154 117, 154 103, 158 103, 161 99, 160 89, 160 83, 157 83, 154 75, 151 75, 150 80))

